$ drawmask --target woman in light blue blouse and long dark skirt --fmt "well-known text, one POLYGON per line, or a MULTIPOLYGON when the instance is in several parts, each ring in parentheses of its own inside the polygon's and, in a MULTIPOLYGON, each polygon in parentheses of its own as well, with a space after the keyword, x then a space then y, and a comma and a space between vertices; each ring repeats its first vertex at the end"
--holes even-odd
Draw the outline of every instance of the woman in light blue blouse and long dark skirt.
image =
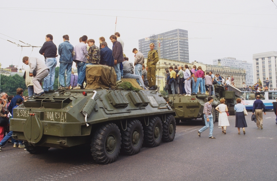
POLYGON ((235 110, 236 110, 236 126, 239 131, 240 135, 240 128, 243 130, 243 134, 245 135, 245 127, 247 127, 245 116, 243 110, 245 109, 245 106, 241 104, 242 100, 241 99, 236 99, 236 105, 235 105, 235 110))

